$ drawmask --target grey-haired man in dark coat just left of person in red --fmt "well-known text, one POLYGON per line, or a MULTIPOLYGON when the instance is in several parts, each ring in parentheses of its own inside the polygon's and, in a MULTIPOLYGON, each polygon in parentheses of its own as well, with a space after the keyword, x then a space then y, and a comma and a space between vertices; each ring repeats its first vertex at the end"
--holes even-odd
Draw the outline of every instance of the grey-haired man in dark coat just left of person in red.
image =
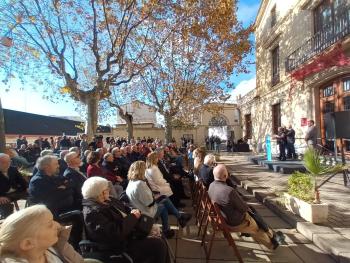
POLYGON ((63 177, 69 182, 69 186, 73 190, 73 206, 76 209, 82 209, 83 195, 81 194, 81 188, 86 180, 86 176, 79 171, 79 167, 82 164, 80 155, 76 152, 67 153, 64 157, 68 167, 63 173, 63 177))

